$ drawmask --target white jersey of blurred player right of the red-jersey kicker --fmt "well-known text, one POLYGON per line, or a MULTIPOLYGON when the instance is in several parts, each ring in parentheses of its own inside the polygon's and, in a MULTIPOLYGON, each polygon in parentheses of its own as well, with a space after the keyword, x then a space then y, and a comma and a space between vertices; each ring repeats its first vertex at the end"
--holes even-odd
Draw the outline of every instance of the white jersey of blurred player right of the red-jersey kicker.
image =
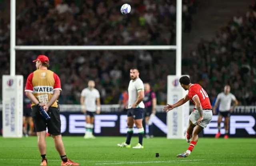
POLYGON ((236 97, 232 93, 229 93, 228 95, 226 95, 224 92, 219 93, 216 99, 216 102, 220 101, 219 111, 229 111, 231 107, 231 102, 235 100, 236 97))

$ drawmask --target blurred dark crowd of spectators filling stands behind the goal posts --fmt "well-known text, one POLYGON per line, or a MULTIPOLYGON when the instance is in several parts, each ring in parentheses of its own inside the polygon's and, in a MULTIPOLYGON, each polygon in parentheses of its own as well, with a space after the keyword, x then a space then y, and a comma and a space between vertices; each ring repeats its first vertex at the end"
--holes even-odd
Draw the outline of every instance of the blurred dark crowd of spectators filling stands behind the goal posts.
MULTIPOLYGON (((0 74, 9 74, 10 18, 7 0, 0 0, 0 74)), ((174 0, 23 0, 17 1, 17 45, 173 45, 174 0), (128 15, 120 6, 132 4, 128 15)), ((183 35, 192 30, 196 0, 183 0, 183 35)), ((213 101, 224 85, 231 85, 240 105, 255 105, 256 7, 234 16, 216 30, 211 41, 202 39, 182 58, 182 74, 200 83, 213 101)), ((38 55, 47 55, 50 69, 60 76, 60 104, 78 104, 88 80, 96 82, 102 104, 117 104, 128 87, 129 70, 156 91, 158 104, 167 98, 167 75, 175 74, 171 51, 16 51, 16 74, 35 70, 38 55)), ((0 78, 0 79, 1 79, 0 78)), ((2 80, 0 81, 2 84, 2 80)), ((2 95, 2 93, 0 94, 2 95)))

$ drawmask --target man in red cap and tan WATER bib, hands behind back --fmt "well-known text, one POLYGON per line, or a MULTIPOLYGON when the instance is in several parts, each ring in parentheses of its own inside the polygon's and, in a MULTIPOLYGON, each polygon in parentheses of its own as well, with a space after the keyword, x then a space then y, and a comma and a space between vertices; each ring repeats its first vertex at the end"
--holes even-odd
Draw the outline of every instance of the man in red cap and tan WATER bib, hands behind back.
POLYGON ((49 59, 45 55, 39 55, 36 60, 36 71, 30 73, 26 82, 25 92, 32 101, 32 118, 36 134, 38 136, 38 149, 42 157, 41 166, 47 166, 46 159, 46 127, 54 138, 56 150, 62 159, 62 166, 78 166, 66 156, 62 136, 60 132, 61 122, 58 111, 57 99, 60 96, 60 78, 54 72, 48 70, 49 59), (50 116, 49 120, 44 119, 40 114, 40 107, 43 107, 50 116))

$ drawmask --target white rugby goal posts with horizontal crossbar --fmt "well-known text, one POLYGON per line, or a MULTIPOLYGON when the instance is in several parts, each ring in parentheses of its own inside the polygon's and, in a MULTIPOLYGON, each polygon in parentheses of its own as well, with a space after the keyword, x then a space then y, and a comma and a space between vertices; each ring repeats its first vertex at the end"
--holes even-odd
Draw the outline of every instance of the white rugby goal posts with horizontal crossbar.
MULTIPOLYGON (((15 73, 15 65, 16 65, 16 50, 176 50, 176 76, 181 76, 181 54, 182 54, 182 0, 177 0, 176 3, 176 45, 94 45, 94 46, 65 46, 65 45, 16 45, 16 0, 10 1, 10 79, 20 79, 21 77, 16 75, 15 73), (11 78, 12 77, 12 78, 11 78)), ((3 79, 4 80, 4 79, 3 79)), ((6 94, 7 83, 3 81, 2 84, 2 94, 3 98, 7 101, 11 98, 10 96, 4 96, 6 94)), ((22 86, 23 86, 23 79, 22 79, 22 86)), ((169 85, 168 85, 169 86, 169 85)), ((23 87, 22 87, 23 88, 23 87)), ((16 100, 23 100, 23 90, 18 91, 16 93, 21 96, 21 98, 15 97, 16 100)), ((169 101, 170 99, 168 99, 169 101)), ((22 102, 23 103, 23 102, 22 102)), ((18 116, 22 113, 23 115, 23 108, 14 107, 15 115, 17 119, 15 120, 16 123, 22 121, 22 116, 18 116)), ((6 108, 3 107, 2 114, 3 117, 10 116, 9 112, 6 112, 6 108)), ((167 117, 167 121, 169 116, 167 117)), ((169 126, 168 126, 169 128, 169 126)), ((9 132, 10 130, 5 124, 3 124, 3 134, 5 132, 9 132)), ((19 129, 20 130, 20 129, 19 129)), ((17 134, 13 134, 12 136, 8 137, 20 137, 17 134)))

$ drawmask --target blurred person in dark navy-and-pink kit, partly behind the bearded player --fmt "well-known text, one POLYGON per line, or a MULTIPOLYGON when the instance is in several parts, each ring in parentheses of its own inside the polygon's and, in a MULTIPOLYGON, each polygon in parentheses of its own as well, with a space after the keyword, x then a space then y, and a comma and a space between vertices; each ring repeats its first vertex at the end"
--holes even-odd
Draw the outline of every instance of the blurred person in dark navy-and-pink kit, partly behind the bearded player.
POLYGON ((153 138, 153 125, 148 124, 150 115, 156 115, 156 93, 150 89, 149 83, 144 83, 145 96, 143 103, 145 105, 145 123, 148 125, 148 132, 146 130, 146 138, 153 138))

